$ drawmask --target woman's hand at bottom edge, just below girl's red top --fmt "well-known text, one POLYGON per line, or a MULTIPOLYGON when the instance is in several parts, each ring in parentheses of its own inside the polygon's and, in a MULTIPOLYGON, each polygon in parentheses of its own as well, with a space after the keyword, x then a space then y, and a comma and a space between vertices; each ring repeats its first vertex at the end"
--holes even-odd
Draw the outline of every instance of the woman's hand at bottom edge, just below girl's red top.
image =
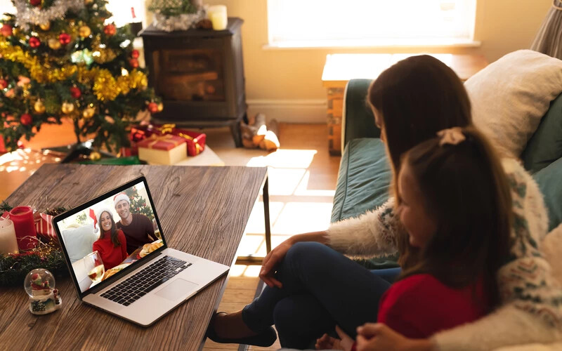
POLYGON ((357 329, 357 351, 431 351, 428 339, 410 339, 382 323, 366 323, 357 329))

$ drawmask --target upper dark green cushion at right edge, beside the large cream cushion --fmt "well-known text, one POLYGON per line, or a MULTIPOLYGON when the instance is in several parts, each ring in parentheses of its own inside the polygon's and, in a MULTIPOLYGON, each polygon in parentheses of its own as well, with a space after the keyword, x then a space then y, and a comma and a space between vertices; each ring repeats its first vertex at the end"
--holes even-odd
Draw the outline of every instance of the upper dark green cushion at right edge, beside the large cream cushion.
POLYGON ((523 165, 536 173, 562 157, 562 94, 554 99, 521 154, 523 165))

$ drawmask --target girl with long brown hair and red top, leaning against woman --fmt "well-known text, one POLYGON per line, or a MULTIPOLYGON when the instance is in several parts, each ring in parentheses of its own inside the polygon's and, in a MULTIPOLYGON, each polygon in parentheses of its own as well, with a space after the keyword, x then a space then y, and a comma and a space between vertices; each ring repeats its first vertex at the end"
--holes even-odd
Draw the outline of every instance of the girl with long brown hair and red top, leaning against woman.
MULTIPOLYGON (((492 147, 473 127, 438 135, 400 161, 396 215, 419 254, 384 293, 377 317, 410 338, 488 314, 509 253, 511 194, 492 147)), ((327 336, 316 346, 334 347, 327 336)))

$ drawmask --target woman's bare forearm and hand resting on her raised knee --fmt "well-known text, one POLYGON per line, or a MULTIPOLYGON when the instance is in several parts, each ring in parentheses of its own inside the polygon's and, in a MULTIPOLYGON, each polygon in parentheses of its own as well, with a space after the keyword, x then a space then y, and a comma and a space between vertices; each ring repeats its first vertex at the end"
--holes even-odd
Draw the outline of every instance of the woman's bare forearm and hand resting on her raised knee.
POLYGON ((259 272, 260 279, 268 284, 270 288, 277 286, 277 288, 281 289, 283 287, 283 284, 273 277, 273 274, 275 274, 275 267, 285 258, 291 246, 299 241, 316 241, 321 244, 326 244, 326 232, 310 232, 294 235, 271 250, 266 258, 263 258, 261 271, 259 272))

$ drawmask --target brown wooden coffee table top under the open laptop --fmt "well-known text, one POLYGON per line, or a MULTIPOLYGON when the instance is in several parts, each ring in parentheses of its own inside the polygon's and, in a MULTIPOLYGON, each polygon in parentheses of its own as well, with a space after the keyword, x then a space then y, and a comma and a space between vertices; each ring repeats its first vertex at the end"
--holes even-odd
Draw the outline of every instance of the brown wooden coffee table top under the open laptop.
MULTIPOLYGON (((39 209, 78 206, 141 175, 171 248, 233 265, 266 168, 44 164, 6 201, 39 209)), ((70 277, 56 280, 61 309, 43 316, 29 312, 22 286, 1 289, 0 340, 20 350, 198 350, 227 279, 221 277, 148 328, 81 303, 70 277)))

